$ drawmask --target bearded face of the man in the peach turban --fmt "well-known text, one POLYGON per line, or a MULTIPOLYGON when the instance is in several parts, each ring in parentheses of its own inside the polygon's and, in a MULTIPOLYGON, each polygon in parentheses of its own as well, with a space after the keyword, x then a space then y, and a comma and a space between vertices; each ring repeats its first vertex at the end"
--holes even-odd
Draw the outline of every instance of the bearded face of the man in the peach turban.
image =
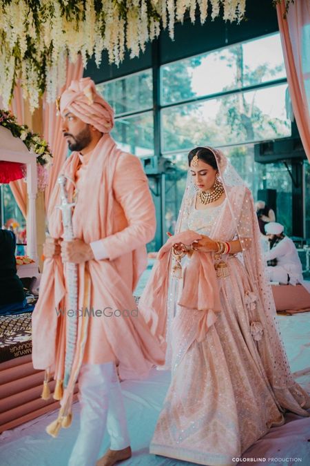
POLYGON ((90 125, 67 112, 62 117, 62 131, 70 151, 83 151, 92 142, 90 125))

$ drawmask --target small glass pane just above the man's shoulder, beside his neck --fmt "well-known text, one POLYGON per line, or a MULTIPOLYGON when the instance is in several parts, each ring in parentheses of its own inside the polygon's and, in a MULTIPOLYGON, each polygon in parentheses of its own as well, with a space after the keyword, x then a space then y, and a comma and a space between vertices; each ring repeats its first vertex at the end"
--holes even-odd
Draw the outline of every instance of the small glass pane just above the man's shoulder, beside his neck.
POLYGON ((153 112, 117 118, 111 135, 123 151, 138 157, 154 155, 153 112))

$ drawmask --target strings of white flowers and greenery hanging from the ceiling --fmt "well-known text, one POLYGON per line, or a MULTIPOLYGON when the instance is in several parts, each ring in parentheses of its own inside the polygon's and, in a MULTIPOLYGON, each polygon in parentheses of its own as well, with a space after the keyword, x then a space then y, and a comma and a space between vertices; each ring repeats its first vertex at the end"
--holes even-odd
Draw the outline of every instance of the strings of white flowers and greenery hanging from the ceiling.
POLYGON ((185 13, 194 23, 196 12, 204 23, 223 11, 225 21, 240 21, 246 0, 1 0, 0 94, 7 108, 15 83, 21 78, 30 110, 56 99, 65 84, 67 57, 73 63, 80 52, 83 65, 94 55, 96 65, 107 50, 110 63, 145 50, 161 28, 174 38, 174 23, 185 13))

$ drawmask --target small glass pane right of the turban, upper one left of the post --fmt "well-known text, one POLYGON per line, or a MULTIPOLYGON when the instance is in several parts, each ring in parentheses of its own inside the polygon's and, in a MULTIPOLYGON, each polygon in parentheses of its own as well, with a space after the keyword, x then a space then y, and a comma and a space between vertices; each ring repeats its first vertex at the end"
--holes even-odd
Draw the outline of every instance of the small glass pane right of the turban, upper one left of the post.
POLYGON ((112 106, 115 115, 147 110, 153 106, 152 70, 97 84, 96 88, 112 106))

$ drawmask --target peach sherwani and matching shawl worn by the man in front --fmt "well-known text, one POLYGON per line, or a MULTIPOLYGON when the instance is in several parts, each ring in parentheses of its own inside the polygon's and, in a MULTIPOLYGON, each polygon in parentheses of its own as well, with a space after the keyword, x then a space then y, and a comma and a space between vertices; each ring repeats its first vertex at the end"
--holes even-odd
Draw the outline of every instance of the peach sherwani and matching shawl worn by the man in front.
MULTIPOLYGON (((91 315, 87 330, 84 319, 78 319, 79 351, 74 355, 72 371, 78 373, 82 362, 115 361, 121 378, 141 378, 152 365, 163 364, 163 352, 140 313, 116 316, 114 311, 136 309, 132 292, 147 264, 145 244, 154 236, 154 204, 147 177, 138 158, 116 148, 109 134, 101 137, 87 164, 81 166, 79 153, 72 153, 61 172, 76 179, 79 188, 72 217, 74 236, 88 244, 102 242, 108 258, 79 264, 79 309, 87 302, 90 309, 108 308, 107 314, 113 313, 110 317, 91 315)), ((67 188, 72 194, 71 183, 67 188)), ((48 211, 50 235, 55 238, 63 235, 57 204, 58 186, 48 211)), ((56 310, 65 308, 66 293, 61 258, 46 259, 32 317, 32 359, 36 369, 50 368, 54 378, 61 380, 68 315, 56 310)))

